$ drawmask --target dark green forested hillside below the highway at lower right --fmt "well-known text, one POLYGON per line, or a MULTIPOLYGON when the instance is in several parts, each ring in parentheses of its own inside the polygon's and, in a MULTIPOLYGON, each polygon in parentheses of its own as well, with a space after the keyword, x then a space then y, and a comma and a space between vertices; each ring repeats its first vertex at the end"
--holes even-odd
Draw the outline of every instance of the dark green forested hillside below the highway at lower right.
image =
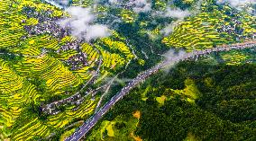
POLYGON ((255 68, 179 63, 114 105, 87 140, 253 140, 255 68))

